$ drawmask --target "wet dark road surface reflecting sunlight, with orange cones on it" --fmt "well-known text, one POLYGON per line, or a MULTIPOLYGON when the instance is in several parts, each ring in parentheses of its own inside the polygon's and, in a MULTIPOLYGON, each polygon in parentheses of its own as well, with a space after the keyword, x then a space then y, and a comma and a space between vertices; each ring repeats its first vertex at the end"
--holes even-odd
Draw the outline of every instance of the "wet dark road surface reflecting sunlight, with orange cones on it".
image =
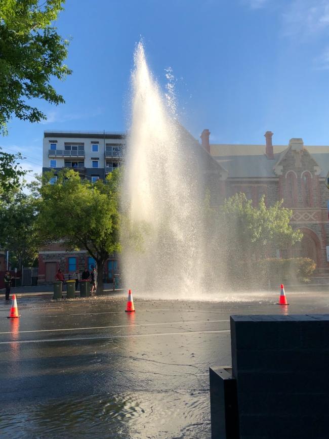
POLYGON ((218 301, 126 295, 0 304, 3 437, 210 438, 209 367, 229 366, 229 316, 328 313, 329 293, 218 301))

